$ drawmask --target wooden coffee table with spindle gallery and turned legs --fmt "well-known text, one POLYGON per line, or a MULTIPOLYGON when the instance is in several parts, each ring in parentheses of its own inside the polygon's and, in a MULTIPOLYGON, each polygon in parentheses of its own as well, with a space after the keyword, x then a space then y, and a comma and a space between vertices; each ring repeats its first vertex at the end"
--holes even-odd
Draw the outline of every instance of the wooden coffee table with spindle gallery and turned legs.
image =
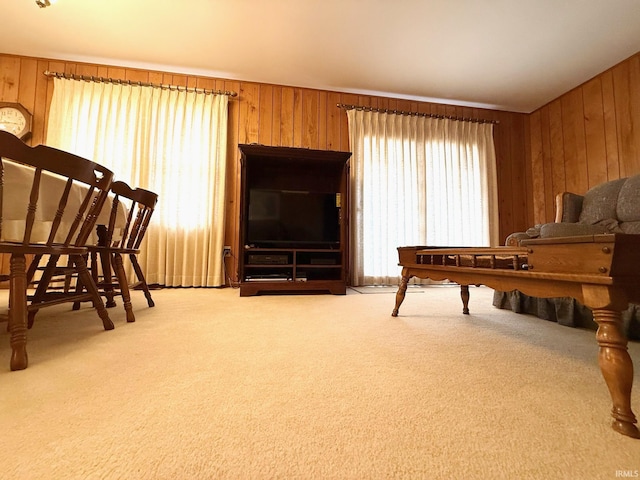
POLYGON ((631 410, 633 363, 620 317, 629 302, 640 300, 640 235, 528 240, 521 247, 400 247, 398 254, 402 281, 393 316, 411 277, 458 283, 463 313, 469 311, 469 285, 538 297, 569 296, 591 308, 598 324, 598 361, 613 401, 612 427, 640 438, 631 410))

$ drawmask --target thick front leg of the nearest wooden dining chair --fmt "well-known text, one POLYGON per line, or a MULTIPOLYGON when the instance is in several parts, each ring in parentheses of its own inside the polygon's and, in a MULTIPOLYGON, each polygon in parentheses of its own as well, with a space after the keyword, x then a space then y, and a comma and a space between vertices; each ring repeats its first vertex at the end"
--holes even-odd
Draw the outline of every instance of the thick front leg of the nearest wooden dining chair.
POLYGON ((27 262, 24 255, 11 255, 9 334, 11 343, 11 370, 24 370, 27 357, 27 262))

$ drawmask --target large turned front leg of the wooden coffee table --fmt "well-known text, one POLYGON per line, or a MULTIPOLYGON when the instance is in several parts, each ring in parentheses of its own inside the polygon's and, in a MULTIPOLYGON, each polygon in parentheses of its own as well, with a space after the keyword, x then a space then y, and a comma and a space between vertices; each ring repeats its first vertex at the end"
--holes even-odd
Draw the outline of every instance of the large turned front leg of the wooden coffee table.
POLYGON ((598 363, 613 401, 611 416, 614 420, 611 426, 623 435, 640 438, 635 425, 637 420, 631 410, 633 362, 627 352, 627 339, 622 333, 620 312, 594 309, 593 316, 598 324, 598 363))

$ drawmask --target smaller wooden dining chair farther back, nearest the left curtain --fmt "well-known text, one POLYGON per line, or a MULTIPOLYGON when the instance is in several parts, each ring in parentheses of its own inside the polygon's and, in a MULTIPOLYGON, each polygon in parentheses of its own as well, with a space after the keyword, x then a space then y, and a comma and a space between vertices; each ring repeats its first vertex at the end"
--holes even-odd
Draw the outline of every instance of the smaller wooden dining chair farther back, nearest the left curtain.
MULTIPOLYGON (((121 296, 128 322, 135 321, 131 304, 131 289, 144 292, 149 307, 155 306, 151 291, 145 279, 138 255, 140 245, 147 232, 151 216, 158 202, 158 195, 142 188, 132 189, 125 182, 117 181, 111 185, 113 203, 109 224, 98 229, 98 244, 89 245, 90 271, 100 294, 106 298, 106 306, 115 306, 114 297, 121 296), (117 228, 119 203, 124 202, 128 211, 123 228, 117 228), (128 256, 137 278, 130 284, 124 267, 123 256, 128 256)), ((78 283, 78 288, 82 283, 78 283)), ((74 308, 79 307, 79 302, 74 308)))

